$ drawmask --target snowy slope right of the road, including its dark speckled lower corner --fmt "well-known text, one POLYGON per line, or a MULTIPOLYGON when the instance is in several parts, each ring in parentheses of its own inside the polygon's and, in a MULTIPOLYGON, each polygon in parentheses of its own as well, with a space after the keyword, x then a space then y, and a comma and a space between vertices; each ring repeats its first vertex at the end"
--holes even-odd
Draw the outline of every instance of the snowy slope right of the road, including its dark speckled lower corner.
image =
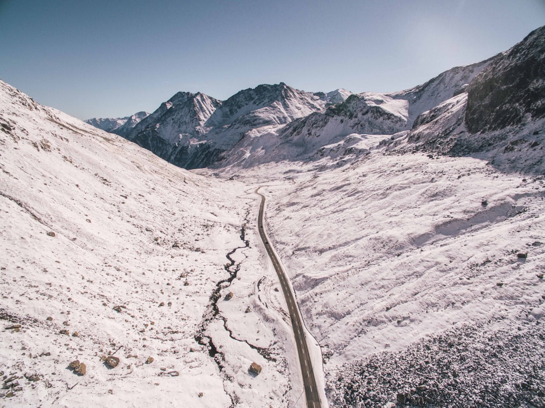
POLYGON ((542 406, 543 178, 375 143, 336 166, 232 169, 267 184, 330 406, 542 406))

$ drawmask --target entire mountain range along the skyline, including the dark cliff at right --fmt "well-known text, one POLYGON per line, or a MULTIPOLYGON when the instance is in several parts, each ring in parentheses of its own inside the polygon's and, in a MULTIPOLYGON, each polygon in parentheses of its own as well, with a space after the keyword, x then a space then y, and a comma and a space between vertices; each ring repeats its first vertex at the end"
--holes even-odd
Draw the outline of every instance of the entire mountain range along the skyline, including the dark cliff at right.
POLYGON ((545 115, 544 38, 545 28, 536 29, 511 50, 401 92, 310 93, 285 83, 244 89, 225 101, 179 92, 152 114, 87 123, 187 169, 346 154, 357 150, 354 134, 387 135, 389 149, 460 155, 498 143, 505 148, 511 140, 498 131, 526 128, 545 115))

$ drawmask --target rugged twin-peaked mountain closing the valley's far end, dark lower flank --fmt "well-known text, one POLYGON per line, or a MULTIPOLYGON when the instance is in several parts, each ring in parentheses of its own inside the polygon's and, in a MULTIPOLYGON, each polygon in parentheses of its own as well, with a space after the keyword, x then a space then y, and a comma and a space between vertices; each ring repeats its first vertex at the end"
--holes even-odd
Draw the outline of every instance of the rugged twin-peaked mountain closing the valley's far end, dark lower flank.
POLYGON ((180 92, 136 125, 126 138, 184 168, 207 167, 244 135, 323 111, 346 91, 303 92, 284 83, 241 90, 226 101, 180 92))

